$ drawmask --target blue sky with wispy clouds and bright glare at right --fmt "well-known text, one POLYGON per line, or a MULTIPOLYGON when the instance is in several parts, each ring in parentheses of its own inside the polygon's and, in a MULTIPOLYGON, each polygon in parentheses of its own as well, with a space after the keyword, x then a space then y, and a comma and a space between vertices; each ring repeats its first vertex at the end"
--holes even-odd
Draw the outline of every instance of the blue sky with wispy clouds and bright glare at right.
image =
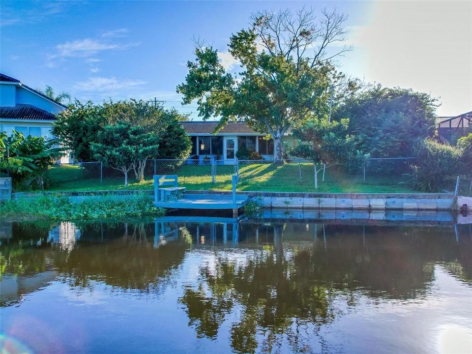
POLYGON ((193 38, 218 49, 228 70, 232 33, 251 13, 302 6, 349 16, 340 70, 365 82, 439 99, 438 116, 472 111, 472 1, 6 1, 0 3, 0 70, 32 88, 80 100, 138 98, 182 107, 176 93, 193 38))

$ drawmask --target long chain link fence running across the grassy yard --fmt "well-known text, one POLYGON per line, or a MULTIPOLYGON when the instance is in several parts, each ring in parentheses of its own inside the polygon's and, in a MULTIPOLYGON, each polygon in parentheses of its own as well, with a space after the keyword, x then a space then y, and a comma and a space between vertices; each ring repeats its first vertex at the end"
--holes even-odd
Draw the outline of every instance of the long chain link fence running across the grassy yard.
MULTIPOLYGON (((143 178, 127 172, 128 189, 152 189, 153 175, 177 175, 188 190, 231 190, 231 176, 238 176, 242 191, 408 193, 416 158, 371 158, 364 163, 321 165, 308 160, 184 159, 147 160, 143 178), (141 180, 140 180, 141 179, 141 180)), ((55 165, 50 170, 50 190, 124 189, 124 173, 100 162, 55 165)), ((458 193, 471 195, 471 178, 461 178, 458 193)), ((470 177, 470 176, 469 176, 470 177)), ((455 181, 448 192, 455 192, 455 181)))

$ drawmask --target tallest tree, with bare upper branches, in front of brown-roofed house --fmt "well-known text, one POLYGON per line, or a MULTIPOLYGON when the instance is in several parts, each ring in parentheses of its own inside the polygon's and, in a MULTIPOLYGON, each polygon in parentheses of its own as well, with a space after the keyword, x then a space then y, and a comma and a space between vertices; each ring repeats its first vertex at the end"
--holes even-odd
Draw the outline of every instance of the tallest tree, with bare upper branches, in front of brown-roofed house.
POLYGON ((197 100, 204 119, 219 117, 217 130, 229 120, 245 121, 274 140, 274 157, 283 158, 282 137, 310 113, 324 114, 330 87, 337 96, 355 89, 355 82, 337 72, 330 60, 350 48, 332 46, 345 39, 346 16, 314 10, 289 10, 252 16, 253 25, 232 35, 229 53, 241 65, 232 75, 213 47, 197 46, 185 82, 177 86, 183 103, 197 100))

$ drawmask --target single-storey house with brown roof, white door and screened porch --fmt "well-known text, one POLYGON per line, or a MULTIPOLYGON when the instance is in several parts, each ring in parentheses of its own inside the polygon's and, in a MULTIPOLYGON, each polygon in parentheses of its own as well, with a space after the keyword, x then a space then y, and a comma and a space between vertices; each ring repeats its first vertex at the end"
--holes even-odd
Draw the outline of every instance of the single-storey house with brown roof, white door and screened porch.
MULTIPOLYGON (((191 155, 198 155, 200 160, 206 156, 232 163, 236 159, 237 150, 241 147, 254 149, 265 159, 274 158, 274 142, 264 139, 261 134, 245 123, 230 122, 217 134, 213 134, 217 121, 182 121, 182 126, 192 139, 191 155)), ((293 137, 286 134, 284 142, 293 145, 293 137)))

